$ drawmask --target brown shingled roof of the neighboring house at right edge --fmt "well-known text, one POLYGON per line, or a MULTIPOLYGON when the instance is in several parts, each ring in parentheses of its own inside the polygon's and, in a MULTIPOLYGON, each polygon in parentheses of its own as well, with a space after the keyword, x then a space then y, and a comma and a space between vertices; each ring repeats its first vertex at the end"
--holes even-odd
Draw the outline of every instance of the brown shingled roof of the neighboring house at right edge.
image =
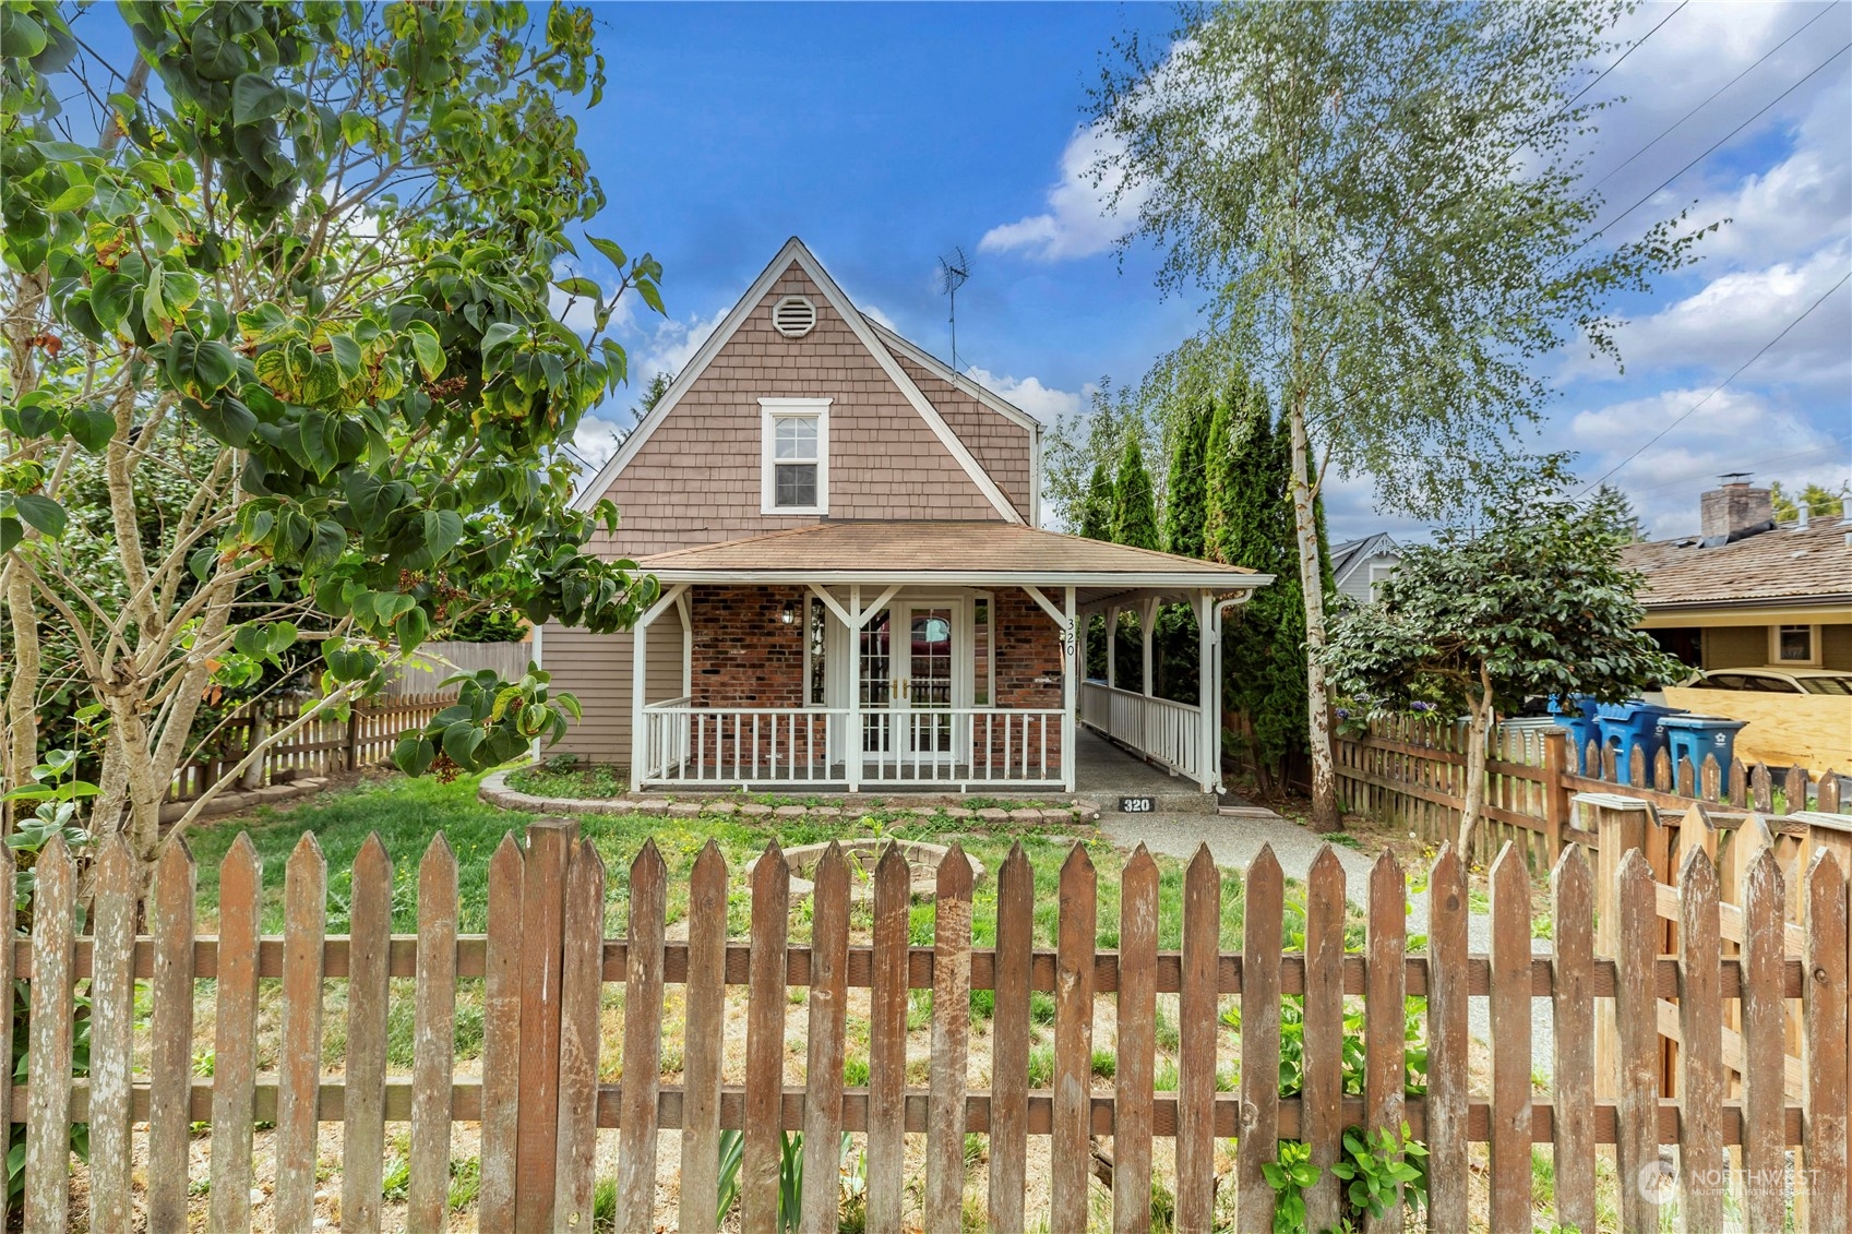
POLYGON ((1845 604, 1852 598, 1852 524, 1815 519, 1759 532, 1715 548, 1696 535, 1626 545, 1620 561, 1646 574, 1646 608, 1743 602, 1845 604))

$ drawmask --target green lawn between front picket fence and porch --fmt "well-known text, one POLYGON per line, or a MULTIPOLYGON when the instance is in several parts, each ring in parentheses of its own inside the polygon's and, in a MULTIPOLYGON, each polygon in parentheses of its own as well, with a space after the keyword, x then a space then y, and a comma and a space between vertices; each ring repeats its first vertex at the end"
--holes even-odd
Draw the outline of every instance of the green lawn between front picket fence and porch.
MULTIPOLYGON (((457 854, 459 891, 461 891, 461 928, 480 934, 487 925, 485 880, 489 858, 494 854, 502 836, 519 830, 530 815, 513 813, 487 806, 476 799, 478 776, 459 776, 448 784, 435 778, 407 780, 389 776, 363 784, 359 787, 322 793, 307 804, 293 810, 265 808, 254 815, 224 819, 196 828, 189 843, 200 863, 200 908, 204 917, 217 915, 219 899, 219 862, 237 832, 248 830, 263 858, 267 934, 282 932, 283 926, 283 867, 291 849, 304 830, 315 832, 317 841, 328 858, 328 928, 346 930, 346 897, 350 888, 348 871, 361 843, 370 832, 378 832, 393 856, 394 880, 394 923, 398 932, 417 928, 417 869, 430 837, 443 830, 450 847, 457 854)), ((745 817, 700 817, 667 819, 644 815, 585 815, 580 819, 583 834, 596 845, 607 871, 607 925, 611 934, 620 932, 628 902, 628 871, 643 841, 656 839, 663 860, 670 871, 669 917, 680 921, 687 912, 685 878, 696 854, 707 839, 720 845, 732 867, 733 897, 730 904, 730 932, 746 934, 748 900, 745 895, 745 865, 765 849, 774 837, 785 845, 820 843, 832 837, 850 836, 896 836, 904 839, 926 839, 932 843, 952 843, 957 839, 965 850, 985 867, 974 895, 974 941, 989 945, 996 938, 996 869, 1009 854, 1015 841, 1035 871, 1035 938, 1039 945, 1054 945, 1057 919, 1057 884, 1061 863, 1067 860, 1069 845, 1050 841, 1046 836, 1076 836, 1085 839, 1087 854, 1098 871, 1098 945, 1119 945, 1119 871, 1124 854, 1106 839, 1098 839, 1085 825, 1041 825, 1020 826, 1007 832, 974 834, 969 821, 952 821, 945 815, 902 815, 893 812, 870 812, 859 819, 745 819, 745 817)), ((1158 858, 1159 867, 1159 945, 1174 949, 1182 945, 1182 902, 1183 902, 1183 863, 1167 856, 1158 858)), ((1298 889, 1289 889, 1289 900, 1298 889)), ((1241 878, 1232 871, 1222 871, 1222 945, 1235 949, 1241 941, 1241 878)), ((865 912, 865 910, 861 910, 865 912)), ((915 943, 932 941, 932 906, 920 904, 913 910, 915 943)), ((1296 912, 1289 908, 1287 930, 1296 923, 1296 912)), ((856 923, 867 928, 867 921, 856 923)), ((1359 930, 1361 934, 1361 930, 1359 930)), ((807 939, 807 913, 795 913, 793 941, 807 939)))

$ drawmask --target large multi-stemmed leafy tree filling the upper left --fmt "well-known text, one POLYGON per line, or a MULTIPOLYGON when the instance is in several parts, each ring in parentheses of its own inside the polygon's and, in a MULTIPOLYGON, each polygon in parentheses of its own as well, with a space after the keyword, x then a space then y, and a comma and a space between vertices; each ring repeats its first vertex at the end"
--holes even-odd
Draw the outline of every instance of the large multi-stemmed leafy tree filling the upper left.
MULTIPOLYGON (((119 78, 57 6, 7 9, 0 593, 7 780, 35 763, 48 678, 69 682, 104 711, 93 828, 148 858, 202 704, 302 647, 317 697, 270 743, 476 613, 633 621, 656 584, 583 550, 617 511, 570 510, 554 447, 624 380, 598 335, 626 291, 659 311, 661 269, 585 237, 617 287, 570 272, 567 230, 604 204, 559 109, 604 89, 587 9, 124 19, 119 78), (561 322, 578 300, 591 343, 561 322), (69 663, 44 663, 50 628, 69 663)), ((544 676, 474 689, 402 767, 489 765, 576 711, 544 676)))

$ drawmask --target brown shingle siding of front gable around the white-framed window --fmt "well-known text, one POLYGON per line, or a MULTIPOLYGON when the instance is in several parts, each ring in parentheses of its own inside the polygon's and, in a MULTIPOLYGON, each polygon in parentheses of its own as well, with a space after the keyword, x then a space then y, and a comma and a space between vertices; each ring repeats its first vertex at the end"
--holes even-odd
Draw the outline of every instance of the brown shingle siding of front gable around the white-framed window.
POLYGON ((835 400, 830 517, 1002 517, 793 263, 606 489, 624 521, 604 550, 643 556, 819 523, 759 513, 757 400, 778 397, 835 400), (770 326, 770 306, 785 295, 817 304, 817 328, 802 339, 770 326))

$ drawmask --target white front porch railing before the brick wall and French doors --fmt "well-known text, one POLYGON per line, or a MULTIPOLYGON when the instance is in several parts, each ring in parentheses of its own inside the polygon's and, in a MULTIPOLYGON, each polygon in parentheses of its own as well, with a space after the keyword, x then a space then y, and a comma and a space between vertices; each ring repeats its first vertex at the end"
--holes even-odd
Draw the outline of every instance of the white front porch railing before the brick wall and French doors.
POLYGON ((1059 708, 643 710, 639 787, 913 786, 1057 787, 1059 708))

